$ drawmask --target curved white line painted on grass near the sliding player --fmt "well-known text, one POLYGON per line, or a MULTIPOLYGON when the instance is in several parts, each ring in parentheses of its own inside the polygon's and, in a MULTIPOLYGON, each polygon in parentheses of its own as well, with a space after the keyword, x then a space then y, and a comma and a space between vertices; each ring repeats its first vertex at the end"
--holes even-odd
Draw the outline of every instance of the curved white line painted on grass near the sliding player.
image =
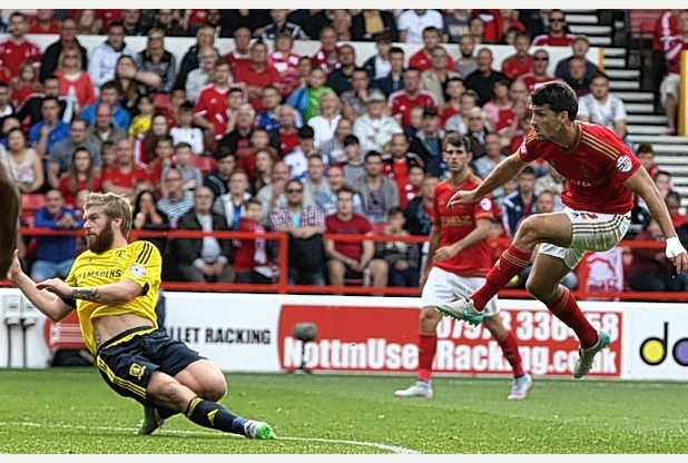
MULTIPOLYGON (((38 424, 38 423, 31 423, 31 422, 21 422, 21 423, 7 423, 7 422, 0 422, 0 427, 16 427, 16 426, 23 426, 23 427, 43 427, 42 425, 38 424)), ((82 426, 82 425, 71 425, 71 424, 63 424, 63 425, 50 425, 49 427, 60 427, 63 430, 99 430, 99 431, 116 431, 116 432, 131 432, 134 434, 134 432, 131 431, 131 427, 115 427, 115 426, 82 426)), ((208 431, 171 431, 171 430, 161 430, 160 431, 164 434, 167 435, 177 435, 179 437, 187 437, 187 436, 191 436, 191 435, 203 435, 203 436, 218 436, 218 433, 220 433, 219 431, 217 432, 208 432, 208 431)), ((230 436, 230 437, 242 437, 238 434, 232 434, 232 433, 226 433, 226 435, 230 436)), ((387 445, 387 444, 381 444, 377 442, 360 442, 360 441, 347 441, 347 440, 343 440, 343 439, 320 439, 320 437, 293 437, 293 436, 278 436, 277 441, 303 441, 303 442, 322 442, 325 444, 347 444, 347 445, 353 445, 353 446, 360 446, 360 447, 371 447, 371 449, 377 449, 377 450, 384 450, 387 451, 390 453, 394 453, 394 454, 403 454, 403 455, 419 455, 421 454, 421 452, 412 450, 412 449, 405 449, 405 447, 400 447, 396 445, 387 445)))

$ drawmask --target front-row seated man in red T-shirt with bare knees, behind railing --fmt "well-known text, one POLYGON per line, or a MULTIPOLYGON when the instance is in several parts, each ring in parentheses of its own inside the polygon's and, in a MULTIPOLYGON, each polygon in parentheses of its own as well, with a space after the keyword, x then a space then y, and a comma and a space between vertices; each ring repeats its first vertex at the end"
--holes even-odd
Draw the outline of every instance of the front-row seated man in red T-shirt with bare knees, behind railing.
MULTIPOLYGON (((327 234, 373 235, 373 226, 365 216, 354 213, 354 190, 344 185, 337 191, 336 213, 325 217, 327 234)), ((325 238, 327 276, 332 286, 344 286, 345 278, 363 278, 368 269, 373 286, 387 285, 389 266, 384 259, 374 259, 375 243, 370 239, 337 242, 325 238)))

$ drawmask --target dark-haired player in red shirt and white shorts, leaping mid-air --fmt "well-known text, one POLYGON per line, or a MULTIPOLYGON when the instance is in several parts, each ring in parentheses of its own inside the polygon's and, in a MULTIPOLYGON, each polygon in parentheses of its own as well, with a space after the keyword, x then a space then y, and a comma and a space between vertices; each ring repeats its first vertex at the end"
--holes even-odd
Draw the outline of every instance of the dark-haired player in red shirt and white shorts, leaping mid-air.
POLYGON ((606 252, 626 235, 633 193, 648 205, 666 237, 666 255, 679 274, 688 272, 688 254, 655 183, 623 141, 610 129, 574 120, 576 93, 567 83, 543 83, 530 96, 532 129, 521 147, 502 161, 476 188, 456 191, 450 203, 480 201, 537 159, 547 160, 567 178, 562 211, 534 214, 521 223, 511 246, 494 264, 485 284, 470 297, 439 304, 438 311, 455 319, 479 324, 489 301, 529 265, 540 244, 525 288, 569 326, 580 341, 573 377, 592 368, 594 356, 611 342, 610 333, 596 329, 576 298, 560 284, 586 252, 606 252))

